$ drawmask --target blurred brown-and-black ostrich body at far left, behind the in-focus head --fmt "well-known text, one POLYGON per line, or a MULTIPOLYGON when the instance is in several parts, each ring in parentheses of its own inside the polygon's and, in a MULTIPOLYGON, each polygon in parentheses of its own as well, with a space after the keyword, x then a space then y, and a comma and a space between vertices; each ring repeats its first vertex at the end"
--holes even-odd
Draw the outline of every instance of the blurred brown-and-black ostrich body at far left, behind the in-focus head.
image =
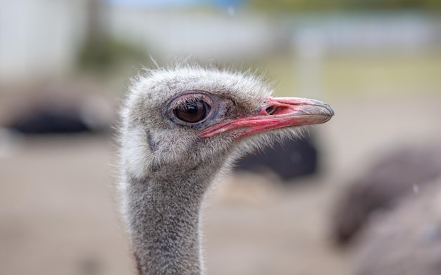
POLYGON ((113 120, 111 104, 87 87, 71 83, 44 85, 11 111, 5 127, 26 135, 99 132, 113 120))

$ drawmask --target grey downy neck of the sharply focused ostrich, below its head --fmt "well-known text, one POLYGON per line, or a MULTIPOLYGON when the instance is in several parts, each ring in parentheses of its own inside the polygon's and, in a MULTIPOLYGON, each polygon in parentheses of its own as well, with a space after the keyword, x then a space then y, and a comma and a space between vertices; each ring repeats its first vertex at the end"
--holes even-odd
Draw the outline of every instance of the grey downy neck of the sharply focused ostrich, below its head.
POLYGON ((202 273, 199 213, 214 174, 204 166, 130 179, 128 222, 139 275, 202 273))

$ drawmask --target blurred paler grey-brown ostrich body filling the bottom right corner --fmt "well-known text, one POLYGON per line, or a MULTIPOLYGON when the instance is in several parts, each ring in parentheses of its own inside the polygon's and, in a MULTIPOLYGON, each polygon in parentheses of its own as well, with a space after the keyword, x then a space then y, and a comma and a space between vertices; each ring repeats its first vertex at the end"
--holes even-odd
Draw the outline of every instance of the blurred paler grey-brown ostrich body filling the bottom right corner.
POLYGON ((441 274, 441 177, 403 200, 354 243, 354 275, 441 274))

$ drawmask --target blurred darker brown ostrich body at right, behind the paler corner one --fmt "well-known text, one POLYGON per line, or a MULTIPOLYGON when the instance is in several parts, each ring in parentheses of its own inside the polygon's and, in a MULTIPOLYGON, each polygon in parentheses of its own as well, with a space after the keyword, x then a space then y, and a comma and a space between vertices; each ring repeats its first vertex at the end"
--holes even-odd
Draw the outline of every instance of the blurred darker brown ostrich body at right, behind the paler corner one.
POLYGON ((373 214, 396 207, 403 197, 415 195, 439 176, 440 147, 408 146, 385 154, 347 185, 333 214, 333 238, 342 245, 349 243, 373 214))

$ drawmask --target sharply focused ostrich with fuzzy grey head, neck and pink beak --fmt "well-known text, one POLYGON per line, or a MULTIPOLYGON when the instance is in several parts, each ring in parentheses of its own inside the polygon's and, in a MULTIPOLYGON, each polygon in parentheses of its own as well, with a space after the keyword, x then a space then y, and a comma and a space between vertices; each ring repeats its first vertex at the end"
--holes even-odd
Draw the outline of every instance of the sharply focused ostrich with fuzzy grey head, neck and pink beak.
POLYGON ((325 123, 312 99, 271 97, 253 75, 196 65, 147 71, 121 111, 121 209, 137 271, 202 274, 200 209, 234 159, 325 123))

